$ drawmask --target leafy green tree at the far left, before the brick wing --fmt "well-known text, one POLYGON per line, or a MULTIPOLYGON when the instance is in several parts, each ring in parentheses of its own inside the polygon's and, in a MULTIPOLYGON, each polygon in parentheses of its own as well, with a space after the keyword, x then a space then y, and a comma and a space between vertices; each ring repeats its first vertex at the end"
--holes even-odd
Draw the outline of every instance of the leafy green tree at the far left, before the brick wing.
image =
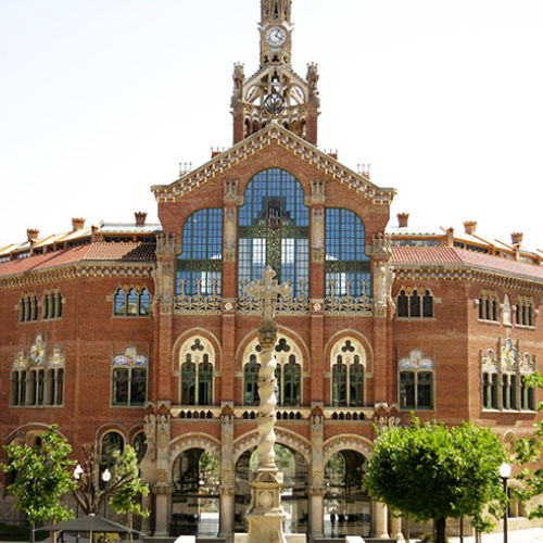
POLYGON ((72 446, 56 432, 58 425, 50 426, 36 445, 5 445, 8 463, 1 467, 14 475, 8 487, 16 498, 17 508, 26 513, 31 525, 31 540, 36 522, 60 522, 73 518, 73 512, 61 505, 60 498, 75 489, 68 459, 72 446))

